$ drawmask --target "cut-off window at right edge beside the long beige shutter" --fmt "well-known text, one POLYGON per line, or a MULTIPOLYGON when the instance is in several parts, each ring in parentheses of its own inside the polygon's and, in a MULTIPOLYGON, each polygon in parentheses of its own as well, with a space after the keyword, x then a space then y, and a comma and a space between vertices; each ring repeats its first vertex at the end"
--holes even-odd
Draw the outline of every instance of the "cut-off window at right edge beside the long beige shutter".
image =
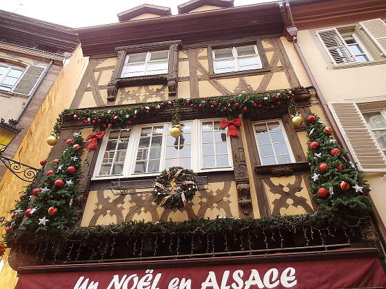
POLYGON ((380 149, 386 154, 386 110, 363 113, 363 116, 380 149))

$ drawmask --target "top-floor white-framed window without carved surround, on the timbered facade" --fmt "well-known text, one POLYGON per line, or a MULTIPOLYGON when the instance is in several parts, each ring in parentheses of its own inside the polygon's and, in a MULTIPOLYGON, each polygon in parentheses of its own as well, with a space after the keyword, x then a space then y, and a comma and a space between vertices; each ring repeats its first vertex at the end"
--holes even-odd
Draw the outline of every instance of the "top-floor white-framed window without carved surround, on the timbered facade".
POLYGON ((261 69, 261 59, 256 45, 212 50, 214 73, 261 69))

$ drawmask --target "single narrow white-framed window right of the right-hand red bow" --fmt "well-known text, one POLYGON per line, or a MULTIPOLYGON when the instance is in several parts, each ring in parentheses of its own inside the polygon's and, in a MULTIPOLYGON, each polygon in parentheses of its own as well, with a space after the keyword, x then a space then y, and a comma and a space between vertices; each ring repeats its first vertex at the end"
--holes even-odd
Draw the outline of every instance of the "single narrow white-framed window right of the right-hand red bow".
POLYGON ((253 127, 262 165, 295 162, 281 120, 253 122, 253 127))

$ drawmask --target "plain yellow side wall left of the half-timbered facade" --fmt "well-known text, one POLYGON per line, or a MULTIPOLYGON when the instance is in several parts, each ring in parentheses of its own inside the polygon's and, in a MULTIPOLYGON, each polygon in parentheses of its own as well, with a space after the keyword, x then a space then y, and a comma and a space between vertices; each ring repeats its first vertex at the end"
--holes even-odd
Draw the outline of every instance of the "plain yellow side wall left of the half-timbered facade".
MULTIPOLYGON (((50 135, 57 116, 63 109, 70 106, 87 64, 88 58, 83 57, 81 48, 78 47, 70 63, 63 67, 51 87, 23 142, 21 142, 14 160, 30 164, 32 167, 39 167, 39 160, 48 156, 51 147, 45 142, 45 139, 50 135)), ((19 198, 19 192, 23 191, 23 186, 26 186, 26 182, 19 180, 10 171, 6 171, 0 181, 0 215, 6 216, 7 220, 10 220, 10 214, 7 212, 13 208, 14 200, 19 198)), ((4 227, 1 227, 1 233, 5 233, 4 227)), ((0 272, 0 288, 14 288, 16 282, 16 272, 8 264, 5 264, 0 272)))

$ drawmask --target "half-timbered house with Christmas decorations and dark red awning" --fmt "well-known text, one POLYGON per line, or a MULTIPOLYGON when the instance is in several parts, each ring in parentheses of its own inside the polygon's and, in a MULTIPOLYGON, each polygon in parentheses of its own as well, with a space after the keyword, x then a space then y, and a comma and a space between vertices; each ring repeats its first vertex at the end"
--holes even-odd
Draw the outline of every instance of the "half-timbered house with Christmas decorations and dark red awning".
POLYGON ((178 10, 74 29, 63 99, 49 93, 23 140, 36 161, 59 138, 43 177, 0 186, 20 198, 16 288, 385 287, 367 184, 332 136, 289 4, 178 10))

